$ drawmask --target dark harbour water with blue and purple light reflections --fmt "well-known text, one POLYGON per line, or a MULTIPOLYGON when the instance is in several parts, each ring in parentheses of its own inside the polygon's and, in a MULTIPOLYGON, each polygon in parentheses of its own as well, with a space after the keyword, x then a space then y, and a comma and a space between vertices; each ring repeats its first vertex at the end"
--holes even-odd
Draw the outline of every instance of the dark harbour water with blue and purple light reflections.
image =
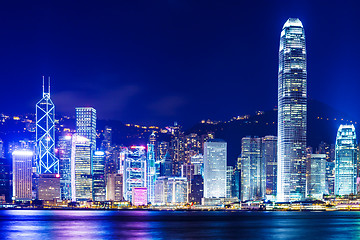
POLYGON ((360 212, 2 210, 2 239, 360 239, 360 212))

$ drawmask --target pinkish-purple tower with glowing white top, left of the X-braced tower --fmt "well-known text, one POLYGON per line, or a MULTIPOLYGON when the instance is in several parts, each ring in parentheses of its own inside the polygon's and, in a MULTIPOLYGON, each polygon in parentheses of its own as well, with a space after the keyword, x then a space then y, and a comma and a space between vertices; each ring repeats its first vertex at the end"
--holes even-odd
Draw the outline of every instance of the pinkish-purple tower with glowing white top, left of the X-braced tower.
POLYGON ((32 200, 32 163, 34 153, 16 150, 13 156, 13 200, 32 200))

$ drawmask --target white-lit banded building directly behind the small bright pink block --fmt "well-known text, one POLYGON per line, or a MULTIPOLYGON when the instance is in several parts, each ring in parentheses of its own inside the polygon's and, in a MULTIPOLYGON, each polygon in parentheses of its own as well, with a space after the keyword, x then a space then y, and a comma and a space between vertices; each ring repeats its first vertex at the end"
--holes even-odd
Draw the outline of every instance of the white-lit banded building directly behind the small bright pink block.
POLYGON ((124 163, 124 199, 132 201, 134 187, 146 187, 146 153, 143 146, 127 149, 124 163))

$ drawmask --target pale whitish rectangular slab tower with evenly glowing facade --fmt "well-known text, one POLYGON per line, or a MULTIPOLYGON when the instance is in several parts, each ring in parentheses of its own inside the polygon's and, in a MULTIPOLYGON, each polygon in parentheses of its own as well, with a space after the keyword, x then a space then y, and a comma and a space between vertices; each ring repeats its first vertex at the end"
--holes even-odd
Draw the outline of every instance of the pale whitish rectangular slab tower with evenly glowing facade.
POLYGON ((211 139, 204 145, 204 198, 226 197, 227 143, 211 139))

